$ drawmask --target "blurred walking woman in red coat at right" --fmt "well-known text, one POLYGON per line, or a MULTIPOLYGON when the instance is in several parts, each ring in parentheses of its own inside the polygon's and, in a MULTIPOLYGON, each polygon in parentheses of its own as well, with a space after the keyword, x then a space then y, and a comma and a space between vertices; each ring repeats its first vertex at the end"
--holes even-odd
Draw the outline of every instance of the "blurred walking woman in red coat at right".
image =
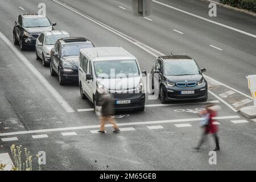
POLYGON ((216 147, 215 147, 214 151, 220 150, 219 138, 218 138, 218 125, 214 125, 214 122, 215 122, 214 117, 216 117, 218 110, 220 110, 220 106, 208 105, 205 108, 205 110, 200 113, 200 115, 207 116, 207 118, 204 119, 207 121, 204 122, 205 123, 203 125, 204 131, 203 131, 202 137, 199 141, 199 144, 197 145, 197 147, 195 147, 195 149, 197 151, 200 150, 200 147, 205 142, 205 139, 207 139, 208 134, 213 135, 214 141, 216 143, 216 147))

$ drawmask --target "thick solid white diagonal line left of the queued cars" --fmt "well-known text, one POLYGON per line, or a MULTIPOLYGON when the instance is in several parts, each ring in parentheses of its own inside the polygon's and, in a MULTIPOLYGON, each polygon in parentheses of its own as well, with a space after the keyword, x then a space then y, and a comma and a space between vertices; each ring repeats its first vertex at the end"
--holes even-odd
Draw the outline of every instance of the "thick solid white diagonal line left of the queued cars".
POLYGON ((57 102, 63 107, 67 113, 75 112, 71 106, 69 106, 68 102, 64 100, 62 96, 53 88, 53 86, 44 78, 44 76, 27 60, 27 58, 20 52, 18 49, 10 42, 9 39, 6 38, 5 35, 0 32, 0 38, 7 44, 7 46, 15 53, 16 56, 27 66, 28 69, 34 74, 36 78, 43 84, 43 86, 52 94, 57 102))

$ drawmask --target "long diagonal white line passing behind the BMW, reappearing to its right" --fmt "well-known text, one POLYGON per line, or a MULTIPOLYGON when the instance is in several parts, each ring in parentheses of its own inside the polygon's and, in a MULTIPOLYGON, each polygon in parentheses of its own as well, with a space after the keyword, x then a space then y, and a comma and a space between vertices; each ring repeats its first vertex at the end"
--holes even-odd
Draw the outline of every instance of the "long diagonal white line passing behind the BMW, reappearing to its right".
MULTIPOLYGON (((57 1, 57 0, 53 0, 53 1, 56 2, 56 3, 58 3, 58 4, 61 5, 61 6, 66 7, 67 9, 69 9, 69 10, 75 12, 76 14, 79 14, 79 15, 83 16, 83 17, 86 18, 86 19, 89 19, 90 21, 92 21, 92 22, 98 24, 99 26, 105 28, 106 30, 109 30, 109 31, 113 32, 115 35, 120 36, 121 38, 123 38, 123 39, 129 41, 130 43, 133 43, 134 45, 136 45, 136 46, 138 46, 139 48, 143 49, 144 51, 150 53, 152 56, 155 56, 156 58, 159 57, 159 56, 164 56, 164 54, 163 54, 162 52, 159 52, 159 51, 155 50, 154 48, 151 48, 151 47, 149 47, 149 46, 147 46, 147 45, 145 45, 145 44, 139 42, 138 40, 133 39, 133 38, 131 38, 130 36, 128 36, 128 35, 126 35, 126 34, 123 34, 122 32, 119 32, 118 30, 115 30, 114 28, 112 28, 112 27, 110 27, 110 26, 107 26, 106 24, 101 23, 100 21, 98 21, 98 20, 96 20, 96 19, 93 19, 93 18, 91 18, 90 16, 85 15, 84 13, 81 13, 80 11, 78 11, 78 10, 76 10, 76 9, 73 9, 73 7, 71 7, 71 6, 65 5, 64 3, 61 3, 61 2, 59 2, 59 1, 57 1), (155 53, 153 53, 153 52, 155 52, 155 53)), ((218 84, 220 84, 220 85, 223 85, 223 86, 225 86, 226 88, 229 88, 229 89, 231 89, 231 90, 234 90, 234 92, 240 93, 240 94, 242 94, 242 95, 245 96, 245 97, 248 97, 248 98, 253 99, 251 96, 249 96, 249 95, 247 95, 247 94, 245 94, 245 93, 242 93, 242 92, 240 92, 239 90, 234 89, 234 88, 232 88, 232 87, 230 87, 230 86, 228 86, 228 85, 225 85, 225 84, 223 84, 223 83, 221 83, 221 82, 219 82, 219 81, 217 81, 217 80, 215 80, 215 79, 213 79, 213 78, 211 78, 211 77, 209 77, 209 76, 207 76, 207 75, 204 75, 204 77, 207 78, 207 79, 210 79, 210 80, 212 80, 212 81, 214 81, 214 82, 216 82, 216 83, 218 83, 218 84)))

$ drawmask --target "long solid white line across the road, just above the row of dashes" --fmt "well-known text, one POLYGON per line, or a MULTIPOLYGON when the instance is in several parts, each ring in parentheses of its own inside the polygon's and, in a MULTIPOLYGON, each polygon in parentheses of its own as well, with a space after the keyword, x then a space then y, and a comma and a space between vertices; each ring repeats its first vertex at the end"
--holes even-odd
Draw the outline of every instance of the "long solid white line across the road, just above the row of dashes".
MULTIPOLYGON (((229 115, 229 116, 223 116, 223 117, 214 117, 214 119, 236 119, 236 118, 240 118, 240 116, 229 115)), ((172 120, 163 120, 163 121, 139 121, 139 122, 119 123, 117 125, 118 126, 154 125, 159 123, 191 122, 191 121, 201 121, 201 120, 202 118, 188 118, 188 119, 172 119, 172 120)), ((108 125, 105 125, 105 127, 112 127, 112 125, 108 124, 108 125)), ((49 133, 54 131, 70 131, 70 130, 95 129, 95 128, 100 128, 100 125, 63 127, 63 128, 55 128, 55 129, 44 129, 44 130, 15 131, 11 133, 0 133, 0 137, 10 136, 10 135, 49 133)))

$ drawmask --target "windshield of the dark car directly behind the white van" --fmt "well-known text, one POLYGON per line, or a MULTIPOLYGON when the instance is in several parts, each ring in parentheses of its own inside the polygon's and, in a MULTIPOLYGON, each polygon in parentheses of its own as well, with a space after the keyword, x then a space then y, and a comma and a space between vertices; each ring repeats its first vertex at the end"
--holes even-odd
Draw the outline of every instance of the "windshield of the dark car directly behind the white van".
POLYGON ((81 44, 64 44, 61 48, 61 56, 77 56, 79 55, 80 49, 91 48, 92 43, 81 43, 81 44))

